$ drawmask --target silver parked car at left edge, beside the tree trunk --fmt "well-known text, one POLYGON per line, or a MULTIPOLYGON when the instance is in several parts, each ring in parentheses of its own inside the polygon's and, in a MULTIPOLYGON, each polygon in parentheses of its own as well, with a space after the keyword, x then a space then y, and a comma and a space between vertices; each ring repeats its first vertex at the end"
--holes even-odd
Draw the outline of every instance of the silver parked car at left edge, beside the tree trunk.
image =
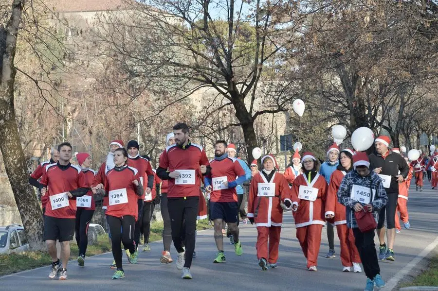
POLYGON ((22 225, 0 226, 0 254, 22 253, 28 250, 29 243, 22 225))

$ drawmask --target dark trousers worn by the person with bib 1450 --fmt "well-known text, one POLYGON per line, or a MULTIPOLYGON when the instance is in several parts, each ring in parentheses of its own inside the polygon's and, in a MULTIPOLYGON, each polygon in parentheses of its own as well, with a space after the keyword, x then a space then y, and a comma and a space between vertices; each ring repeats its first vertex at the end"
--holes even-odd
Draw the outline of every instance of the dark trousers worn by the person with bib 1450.
POLYGON ((372 280, 377 274, 380 274, 379 261, 374 244, 374 229, 363 233, 359 228, 353 228, 353 234, 362 265, 364 266, 365 275, 372 280))

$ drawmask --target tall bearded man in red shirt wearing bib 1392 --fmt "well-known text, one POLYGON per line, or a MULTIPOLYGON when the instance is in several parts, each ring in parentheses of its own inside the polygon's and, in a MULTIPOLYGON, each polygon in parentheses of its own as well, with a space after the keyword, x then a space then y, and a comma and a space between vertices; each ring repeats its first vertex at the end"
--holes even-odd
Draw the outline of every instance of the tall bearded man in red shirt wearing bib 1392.
POLYGON ((176 144, 167 147, 161 155, 157 175, 163 180, 169 180, 167 207, 172 225, 172 240, 178 252, 177 268, 183 270, 183 279, 192 279, 190 266, 195 250, 201 187, 199 174, 208 174, 208 159, 204 149, 189 140, 190 129, 185 123, 176 124, 173 133, 176 144), (185 251, 182 245, 183 231, 185 251))

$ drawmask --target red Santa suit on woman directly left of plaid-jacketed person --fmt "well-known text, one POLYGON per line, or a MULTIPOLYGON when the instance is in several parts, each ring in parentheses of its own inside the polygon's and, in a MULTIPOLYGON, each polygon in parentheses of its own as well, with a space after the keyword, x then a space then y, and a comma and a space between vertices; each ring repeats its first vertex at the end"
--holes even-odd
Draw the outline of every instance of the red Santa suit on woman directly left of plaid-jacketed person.
POLYGON ((354 242, 353 230, 347 227, 345 206, 338 202, 338 189, 346 174, 346 171, 340 170, 336 170, 331 174, 327 190, 325 215, 334 215, 334 218, 329 222, 336 225, 341 242, 341 262, 344 267, 351 267, 353 262, 360 263, 361 258, 354 242))

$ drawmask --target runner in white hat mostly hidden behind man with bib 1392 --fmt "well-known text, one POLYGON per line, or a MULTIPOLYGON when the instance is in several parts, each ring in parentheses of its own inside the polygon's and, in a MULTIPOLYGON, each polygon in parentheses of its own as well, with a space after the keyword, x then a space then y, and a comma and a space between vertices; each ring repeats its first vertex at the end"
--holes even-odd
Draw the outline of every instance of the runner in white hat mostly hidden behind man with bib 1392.
MULTIPOLYGON (((174 144, 175 144, 175 136, 173 132, 171 132, 166 136, 166 147, 174 144)), ((160 161, 163 153, 160 154, 160 161)), ((162 262, 163 264, 169 264, 173 262, 172 256, 170 256, 170 244, 172 243, 172 228, 170 224, 169 211, 167 210, 167 191, 168 191, 168 180, 161 180, 160 210, 161 210, 161 216, 163 217, 163 253, 160 257, 160 262, 162 262)))

